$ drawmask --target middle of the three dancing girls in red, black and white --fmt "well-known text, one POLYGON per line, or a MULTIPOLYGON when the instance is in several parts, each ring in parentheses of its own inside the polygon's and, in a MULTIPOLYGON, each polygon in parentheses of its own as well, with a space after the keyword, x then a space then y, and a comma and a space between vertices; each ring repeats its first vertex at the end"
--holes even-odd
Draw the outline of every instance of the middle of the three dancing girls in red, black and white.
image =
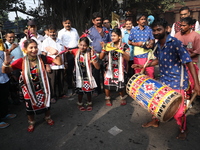
POLYGON ((76 89, 78 94, 78 109, 80 111, 92 111, 91 93, 97 87, 96 81, 92 76, 92 65, 99 69, 98 58, 94 50, 89 48, 89 39, 82 37, 79 40, 78 49, 69 50, 75 56, 76 89), (87 108, 82 102, 83 95, 87 94, 87 108))

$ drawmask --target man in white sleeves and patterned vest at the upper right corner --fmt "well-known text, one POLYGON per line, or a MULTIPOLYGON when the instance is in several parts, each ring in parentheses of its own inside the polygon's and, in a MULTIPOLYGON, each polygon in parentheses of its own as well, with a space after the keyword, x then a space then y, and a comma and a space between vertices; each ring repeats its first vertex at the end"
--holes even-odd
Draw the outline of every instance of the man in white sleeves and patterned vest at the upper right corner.
MULTIPOLYGON (((190 17, 190 9, 188 6, 184 6, 179 10, 180 13, 180 19, 186 18, 186 17, 190 17)), ((200 31, 200 25, 198 21, 195 21, 192 24, 192 30, 193 31, 200 31)), ((172 31, 171 31, 171 36, 174 36, 177 32, 179 32, 181 30, 181 22, 177 21, 173 24, 172 26, 172 31)))

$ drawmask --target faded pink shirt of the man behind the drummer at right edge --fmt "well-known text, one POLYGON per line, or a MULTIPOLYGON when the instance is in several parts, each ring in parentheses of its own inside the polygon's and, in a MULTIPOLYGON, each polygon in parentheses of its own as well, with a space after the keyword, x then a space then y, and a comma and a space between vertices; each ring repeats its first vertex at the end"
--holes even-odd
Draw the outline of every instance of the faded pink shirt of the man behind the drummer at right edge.
MULTIPOLYGON (((181 35, 181 32, 179 31, 174 37, 183 42, 183 45, 188 50, 189 54, 200 54, 200 34, 192 31, 187 35, 181 35)), ((192 61, 198 62, 198 55, 192 57, 192 61)))

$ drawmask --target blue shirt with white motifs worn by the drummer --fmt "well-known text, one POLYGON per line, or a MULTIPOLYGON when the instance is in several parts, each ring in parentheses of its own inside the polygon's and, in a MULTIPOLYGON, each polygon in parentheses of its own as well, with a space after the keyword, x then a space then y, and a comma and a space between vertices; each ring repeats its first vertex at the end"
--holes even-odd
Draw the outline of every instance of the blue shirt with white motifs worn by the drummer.
MULTIPOLYGON (((165 45, 158 48, 155 57, 159 60, 160 80, 172 89, 180 89, 181 65, 191 62, 188 51, 184 48, 181 41, 168 35, 165 45)), ((188 73, 184 65, 183 89, 188 88, 188 73)))

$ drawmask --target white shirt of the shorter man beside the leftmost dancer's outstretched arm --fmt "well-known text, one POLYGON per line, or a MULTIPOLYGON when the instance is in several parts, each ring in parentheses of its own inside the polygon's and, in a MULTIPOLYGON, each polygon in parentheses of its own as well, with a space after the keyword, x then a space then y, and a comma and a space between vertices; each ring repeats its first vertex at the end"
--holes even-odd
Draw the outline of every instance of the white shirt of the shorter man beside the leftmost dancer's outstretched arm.
MULTIPOLYGON (((64 50, 64 46, 62 45, 61 40, 59 40, 57 38, 56 41, 54 41, 50 37, 46 38, 42 43, 42 52, 47 53, 47 56, 50 56, 52 58, 55 58, 56 55, 50 55, 50 53, 45 50, 45 48, 48 47, 48 46, 56 49, 58 52, 61 52, 61 51, 64 50)), ((62 58, 62 60, 63 60, 63 58, 62 58)), ((64 65, 58 66, 58 65, 55 65, 55 64, 51 64, 50 67, 51 67, 52 70, 64 69, 64 65)))

